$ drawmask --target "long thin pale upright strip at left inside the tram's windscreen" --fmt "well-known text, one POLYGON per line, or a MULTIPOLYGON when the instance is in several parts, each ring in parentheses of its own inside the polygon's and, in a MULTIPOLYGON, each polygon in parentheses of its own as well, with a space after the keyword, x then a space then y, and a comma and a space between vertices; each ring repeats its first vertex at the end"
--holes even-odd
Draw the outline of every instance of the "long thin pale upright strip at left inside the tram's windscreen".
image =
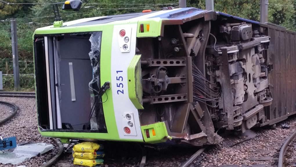
POLYGON ((49 80, 49 55, 48 55, 48 40, 47 36, 44 37, 44 47, 45 47, 45 63, 46 63, 46 78, 47 78, 47 94, 48 94, 48 110, 49 110, 49 128, 53 129, 52 125, 52 100, 50 92, 50 80, 49 80))

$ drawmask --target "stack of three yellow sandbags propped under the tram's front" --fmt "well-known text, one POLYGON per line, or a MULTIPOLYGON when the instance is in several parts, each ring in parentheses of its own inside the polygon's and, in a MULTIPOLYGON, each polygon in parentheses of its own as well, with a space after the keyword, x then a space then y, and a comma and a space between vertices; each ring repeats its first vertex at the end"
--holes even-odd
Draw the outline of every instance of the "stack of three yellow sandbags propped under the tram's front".
POLYGON ((95 142, 83 142, 73 147, 74 165, 96 166, 104 164, 103 146, 95 142))

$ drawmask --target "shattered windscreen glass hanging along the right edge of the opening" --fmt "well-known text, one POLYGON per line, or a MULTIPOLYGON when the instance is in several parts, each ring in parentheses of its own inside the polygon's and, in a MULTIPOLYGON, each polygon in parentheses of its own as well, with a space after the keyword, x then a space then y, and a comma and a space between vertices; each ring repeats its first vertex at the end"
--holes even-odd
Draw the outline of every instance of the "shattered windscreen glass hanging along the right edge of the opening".
POLYGON ((91 94, 91 130, 107 132, 106 123, 102 107, 102 99, 99 97, 100 91, 100 56, 101 56, 101 38, 102 32, 93 32, 89 41, 91 42, 91 51, 89 58, 93 70, 93 78, 89 82, 89 91, 91 94))

